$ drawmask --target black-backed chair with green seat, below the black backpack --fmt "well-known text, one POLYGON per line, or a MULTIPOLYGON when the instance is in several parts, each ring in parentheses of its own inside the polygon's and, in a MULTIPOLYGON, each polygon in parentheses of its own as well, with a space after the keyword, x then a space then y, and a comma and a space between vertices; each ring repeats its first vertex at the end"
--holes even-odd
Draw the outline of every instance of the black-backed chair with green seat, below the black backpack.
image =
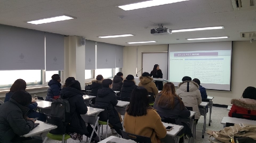
POLYGON ((60 140, 61 143, 67 143, 67 139, 70 138, 70 135, 66 134, 67 123, 63 123, 60 117, 55 117, 47 115, 47 123, 57 126, 57 129, 51 130, 47 137, 44 139, 43 143, 46 143, 47 138, 52 140, 60 140))

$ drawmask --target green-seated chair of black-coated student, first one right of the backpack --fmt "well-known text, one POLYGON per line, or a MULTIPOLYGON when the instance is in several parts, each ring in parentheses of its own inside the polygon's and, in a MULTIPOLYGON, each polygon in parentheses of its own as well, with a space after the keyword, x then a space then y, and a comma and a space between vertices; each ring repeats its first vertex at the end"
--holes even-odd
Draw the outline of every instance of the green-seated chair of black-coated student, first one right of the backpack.
POLYGON ((102 126, 102 134, 103 134, 103 125, 107 125, 107 128, 106 128, 106 138, 107 138, 108 137, 108 118, 109 118, 107 106, 90 104, 90 107, 104 109, 104 111, 100 112, 98 115, 99 117, 98 123, 99 125, 102 126))

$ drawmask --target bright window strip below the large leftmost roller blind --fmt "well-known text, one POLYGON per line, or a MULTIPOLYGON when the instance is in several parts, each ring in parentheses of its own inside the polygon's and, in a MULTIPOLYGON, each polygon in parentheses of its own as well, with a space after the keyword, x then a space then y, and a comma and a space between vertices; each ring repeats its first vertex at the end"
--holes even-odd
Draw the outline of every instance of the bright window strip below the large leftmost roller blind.
POLYGON ((20 78, 26 81, 27 86, 42 84, 42 70, 0 71, 0 88, 11 87, 20 78))

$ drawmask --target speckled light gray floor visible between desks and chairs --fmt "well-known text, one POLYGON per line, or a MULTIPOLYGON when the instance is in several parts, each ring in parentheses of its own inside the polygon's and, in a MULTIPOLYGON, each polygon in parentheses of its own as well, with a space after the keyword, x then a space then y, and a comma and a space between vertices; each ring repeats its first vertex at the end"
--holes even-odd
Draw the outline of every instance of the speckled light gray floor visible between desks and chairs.
MULTIPOLYGON (((220 108, 220 107, 212 107, 212 123, 211 126, 208 126, 209 123, 209 112, 207 113, 207 126, 206 130, 212 130, 212 131, 219 131, 223 129, 223 125, 221 124, 221 120, 224 116, 227 116, 228 111, 227 108, 220 108)), ((204 138, 202 138, 202 129, 204 124, 204 117, 201 116, 201 118, 198 120, 198 124, 196 126, 196 139, 195 143, 210 143, 209 141, 209 135, 204 134, 204 138)), ((108 128, 109 129, 109 128, 108 128)), ((103 126, 103 132, 106 132, 106 127, 103 126)), ((111 136, 111 130, 108 130, 108 136, 111 136)), ((105 137, 105 133, 103 134, 103 137, 105 137)), ((56 140, 47 140, 47 143, 61 143, 61 141, 56 140)), ((72 140, 68 139, 67 143, 79 143, 79 140, 72 140)), ((84 140, 82 143, 86 143, 86 137, 84 136, 84 140)), ((188 143, 188 139, 185 140, 185 143, 188 143)))

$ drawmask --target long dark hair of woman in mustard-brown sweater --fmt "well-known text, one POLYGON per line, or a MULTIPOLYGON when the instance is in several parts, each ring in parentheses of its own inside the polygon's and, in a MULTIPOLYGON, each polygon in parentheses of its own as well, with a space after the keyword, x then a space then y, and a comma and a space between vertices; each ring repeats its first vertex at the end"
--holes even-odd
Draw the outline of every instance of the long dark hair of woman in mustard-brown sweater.
POLYGON ((143 116, 147 109, 152 109, 148 104, 148 91, 142 86, 135 88, 131 93, 130 104, 126 110, 130 116, 143 116))

